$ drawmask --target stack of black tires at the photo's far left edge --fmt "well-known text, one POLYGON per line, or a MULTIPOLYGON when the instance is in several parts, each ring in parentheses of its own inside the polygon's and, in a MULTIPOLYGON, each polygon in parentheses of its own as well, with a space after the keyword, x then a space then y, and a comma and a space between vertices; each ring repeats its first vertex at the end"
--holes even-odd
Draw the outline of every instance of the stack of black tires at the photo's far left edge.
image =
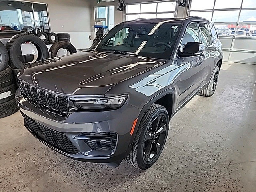
POLYGON ((0 42, 0 118, 4 118, 18 111, 14 99, 17 90, 14 84, 12 70, 8 68, 8 52, 0 42))

